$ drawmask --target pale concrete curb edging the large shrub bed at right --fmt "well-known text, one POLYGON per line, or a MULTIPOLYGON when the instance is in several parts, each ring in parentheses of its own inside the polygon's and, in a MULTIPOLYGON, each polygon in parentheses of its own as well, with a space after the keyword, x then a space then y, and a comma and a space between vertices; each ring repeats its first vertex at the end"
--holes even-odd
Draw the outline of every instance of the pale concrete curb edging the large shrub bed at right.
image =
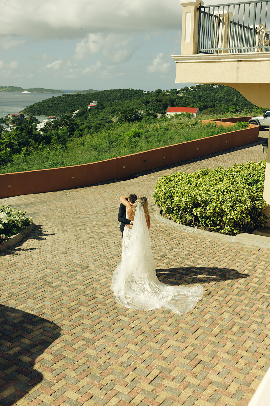
POLYGON ((196 234, 196 235, 204 237, 204 238, 211 238, 211 240, 230 242, 232 244, 234 242, 237 242, 237 243, 243 244, 243 245, 250 245, 250 246, 270 249, 270 238, 269 237, 265 237, 263 235, 248 234, 248 233, 237 234, 234 237, 232 235, 212 233, 211 231, 201 230, 201 229, 197 229, 195 227, 193 228, 193 227, 184 226, 183 224, 178 224, 172 220, 168 220, 168 218, 164 218, 160 214, 160 212, 161 212, 161 210, 158 209, 155 214, 155 218, 157 219, 157 221, 167 225, 168 227, 173 227, 180 231, 183 231, 184 233, 196 234))

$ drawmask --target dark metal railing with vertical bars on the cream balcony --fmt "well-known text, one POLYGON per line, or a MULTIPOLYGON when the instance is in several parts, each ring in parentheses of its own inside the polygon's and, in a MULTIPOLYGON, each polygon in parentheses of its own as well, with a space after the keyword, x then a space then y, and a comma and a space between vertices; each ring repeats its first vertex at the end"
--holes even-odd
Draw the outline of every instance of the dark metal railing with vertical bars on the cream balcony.
POLYGON ((270 51, 267 0, 200 5, 198 11, 198 54, 270 51))

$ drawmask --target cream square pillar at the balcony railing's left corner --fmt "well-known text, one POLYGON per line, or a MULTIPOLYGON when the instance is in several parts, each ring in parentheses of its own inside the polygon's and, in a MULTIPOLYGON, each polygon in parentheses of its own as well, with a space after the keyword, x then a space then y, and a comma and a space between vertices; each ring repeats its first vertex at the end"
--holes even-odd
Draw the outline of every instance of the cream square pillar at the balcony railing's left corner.
POLYGON ((183 6, 181 55, 197 54, 199 20, 197 8, 200 4, 203 6, 204 2, 180 0, 180 4, 183 6))

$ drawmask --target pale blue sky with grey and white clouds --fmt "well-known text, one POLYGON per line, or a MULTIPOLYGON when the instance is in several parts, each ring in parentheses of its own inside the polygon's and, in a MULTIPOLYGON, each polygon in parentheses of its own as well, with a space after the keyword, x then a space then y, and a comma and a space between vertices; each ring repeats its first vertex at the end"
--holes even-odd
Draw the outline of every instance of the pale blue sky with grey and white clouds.
POLYGON ((170 89, 179 0, 2 0, 0 86, 170 89))

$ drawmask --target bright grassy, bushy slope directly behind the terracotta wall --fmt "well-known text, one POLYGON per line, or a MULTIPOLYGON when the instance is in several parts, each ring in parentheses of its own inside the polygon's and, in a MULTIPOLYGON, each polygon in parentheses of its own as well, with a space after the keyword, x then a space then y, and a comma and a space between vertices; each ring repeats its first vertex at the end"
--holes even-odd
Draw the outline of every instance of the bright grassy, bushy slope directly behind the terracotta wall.
MULTIPOLYGON (((0 143, 0 173, 87 164, 235 130, 234 126, 202 125, 194 118, 179 116, 151 120, 148 124, 143 120, 114 123, 109 129, 91 132, 87 125, 76 128, 72 120, 61 119, 51 124, 58 125, 57 130, 51 127, 42 135, 32 131, 32 122, 24 123, 0 143), (4 163, 7 158, 9 164, 4 163)), ((239 125, 242 128, 247 123, 236 127, 239 125)))

